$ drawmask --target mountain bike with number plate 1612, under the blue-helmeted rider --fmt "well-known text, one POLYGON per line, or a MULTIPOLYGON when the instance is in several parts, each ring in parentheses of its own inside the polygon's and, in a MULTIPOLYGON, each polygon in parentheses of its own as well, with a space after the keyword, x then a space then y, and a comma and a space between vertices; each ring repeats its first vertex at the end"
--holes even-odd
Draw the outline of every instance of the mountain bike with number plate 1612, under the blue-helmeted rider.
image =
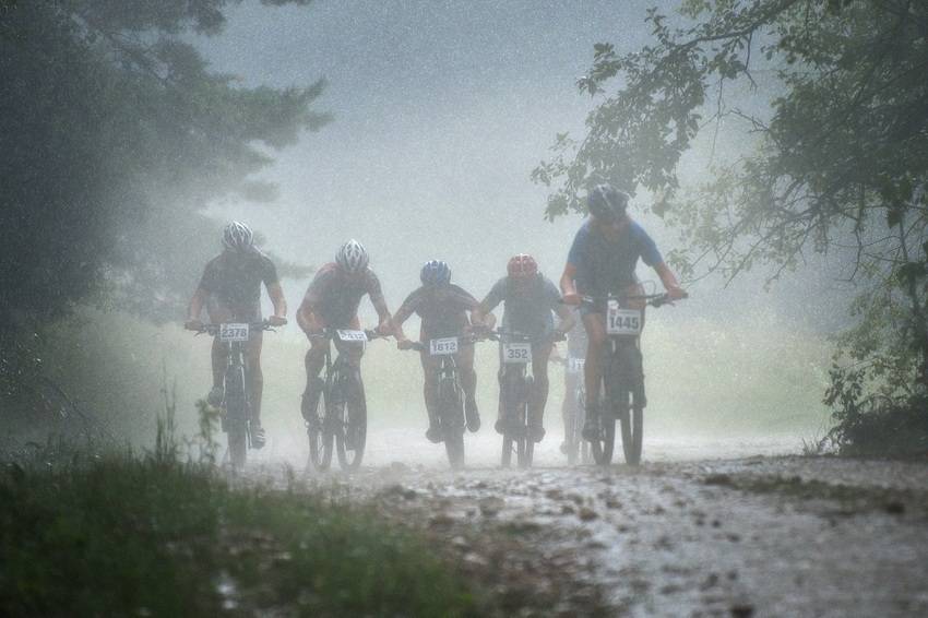
POLYGON ((464 389, 457 375, 454 355, 465 345, 474 345, 483 337, 466 334, 454 337, 440 337, 428 342, 409 342, 407 349, 437 356, 439 363, 426 380, 436 381, 437 416, 441 429, 441 441, 448 453, 448 462, 454 470, 464 467, 464 389))

